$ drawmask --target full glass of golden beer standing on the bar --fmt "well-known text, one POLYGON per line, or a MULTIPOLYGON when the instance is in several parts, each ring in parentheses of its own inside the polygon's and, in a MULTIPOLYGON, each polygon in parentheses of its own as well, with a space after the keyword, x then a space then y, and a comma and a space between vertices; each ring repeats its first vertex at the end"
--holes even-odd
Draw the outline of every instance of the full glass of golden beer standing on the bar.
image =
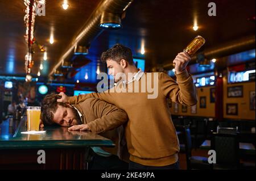
POLYGON ((27 107, 27 131, 39 131, 41 107, 27 107))

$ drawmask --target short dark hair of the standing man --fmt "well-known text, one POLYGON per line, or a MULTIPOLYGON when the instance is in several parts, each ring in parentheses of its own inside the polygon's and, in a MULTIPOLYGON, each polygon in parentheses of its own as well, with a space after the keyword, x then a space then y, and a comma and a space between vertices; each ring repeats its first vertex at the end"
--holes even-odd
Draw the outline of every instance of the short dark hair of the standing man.
POLYGON ((124 59, 128 64, 133 65, 133 53, 131 49, 121 44, 115 44, 114 47, 101 54, 102 62, 106 62, 108 59, 112 59, 118 63, 124 59))

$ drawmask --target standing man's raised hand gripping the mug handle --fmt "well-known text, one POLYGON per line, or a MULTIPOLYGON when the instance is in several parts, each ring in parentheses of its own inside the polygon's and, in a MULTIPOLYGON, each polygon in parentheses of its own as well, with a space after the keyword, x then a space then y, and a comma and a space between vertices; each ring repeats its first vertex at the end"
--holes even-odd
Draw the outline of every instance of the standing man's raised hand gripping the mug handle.
POLYGON ((177 56, 173 61, 175 64, 176 74, 183 72, 186 69, 188 62, 190 60, 191 60, 191 57, 189 57, 187 53, 180 52, 179 54, 177 54, 177 56))

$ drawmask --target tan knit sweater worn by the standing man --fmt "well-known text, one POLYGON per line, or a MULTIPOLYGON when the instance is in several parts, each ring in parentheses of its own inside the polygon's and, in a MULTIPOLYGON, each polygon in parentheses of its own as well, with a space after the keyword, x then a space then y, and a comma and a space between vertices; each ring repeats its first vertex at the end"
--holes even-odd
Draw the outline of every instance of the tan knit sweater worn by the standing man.
MULTIPOLYGON (((139 79, 126 87, 122 83, 112 89, 101 92, 68 98, 70 104, 77 104, 90 97, 96 97, 125 110, 129 121, 125 128, 127 148, 130 160, 146 166, 166 166, 177 162, 179 140, 172 123, 167 98, 172 102, 193 106, 197 103, 196 86, 191 75, 184 70, 176 74, 176 81, 167 74, 158 73, 158 96, 148 99, 148 92, 127 92, 127 90, 143 90, 141 81, 149 77, 144 73, 139 79), (120 93, 119 93, 120 92, 120 93)), ((153 75, 151 81, 153 82, 153 75)))

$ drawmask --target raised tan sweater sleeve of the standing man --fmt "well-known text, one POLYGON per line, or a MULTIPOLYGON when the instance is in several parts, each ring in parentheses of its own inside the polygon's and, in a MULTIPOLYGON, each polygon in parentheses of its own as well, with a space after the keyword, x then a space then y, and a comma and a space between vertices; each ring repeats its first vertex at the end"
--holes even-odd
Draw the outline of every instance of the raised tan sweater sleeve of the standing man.
POLYGON ((187 70, 176 74, 177 81, 165 73, 159 73, 159 85, 163 95, 172 102, 193 106, 197 103, 196 86, 187 70))

